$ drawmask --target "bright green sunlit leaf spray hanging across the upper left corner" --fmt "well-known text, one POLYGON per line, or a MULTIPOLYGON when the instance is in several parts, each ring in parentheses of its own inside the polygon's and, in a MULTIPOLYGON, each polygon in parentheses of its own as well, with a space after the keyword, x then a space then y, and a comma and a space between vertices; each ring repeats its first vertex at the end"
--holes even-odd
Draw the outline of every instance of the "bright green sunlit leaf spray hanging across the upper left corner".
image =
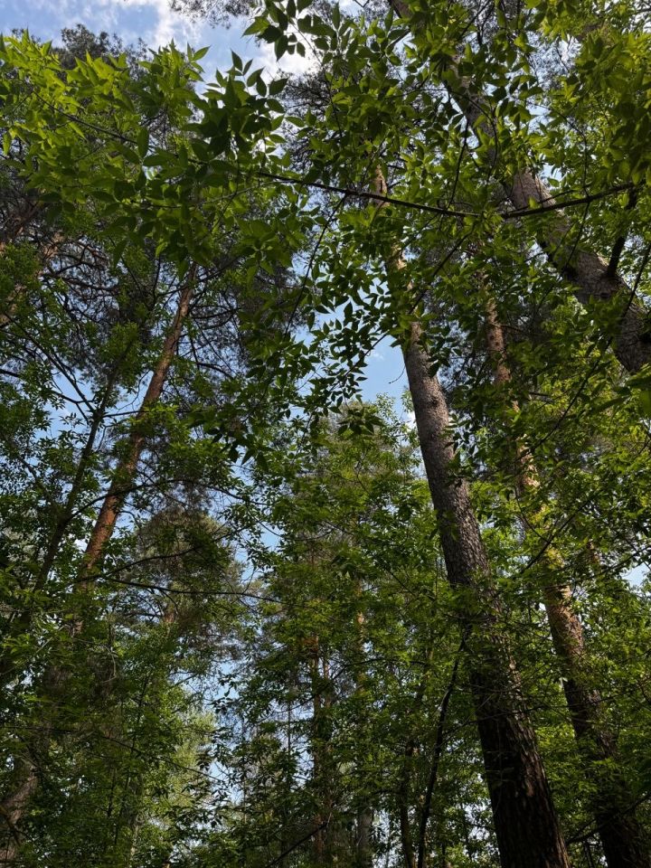
MULTIPOLYGON (((0 57, 11 123, 5 153, 20 140, 16 168, 44 202, 73 212, 90 200, 115 244, 116 262, 127 244, 142 247, 150 238, 180 266, 188 257, 210 264, 210 227, 219 218, 230 228, 237 193, 250 183, 241 179, 255 178, 278 145, 281 82, 267 87, 259 71, 236 57, 231 71, 200 95, 202 52, 174 45, 141 61, 137 79, 124 56, 110 62, 88 56, 64 70, 49 45, 27 34, 5 39, 0 57)), ((287 243, 265 260, 256 249, 259 227, 251 227, 259 259, 284 255, 287 243)))

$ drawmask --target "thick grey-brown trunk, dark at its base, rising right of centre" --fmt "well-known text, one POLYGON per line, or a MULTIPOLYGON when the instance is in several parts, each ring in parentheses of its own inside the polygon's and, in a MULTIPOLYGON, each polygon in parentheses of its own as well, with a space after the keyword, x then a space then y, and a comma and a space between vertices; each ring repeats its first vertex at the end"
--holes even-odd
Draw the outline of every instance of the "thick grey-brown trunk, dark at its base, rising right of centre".
MULTIPOLYGON (((379 168, 375 189, 386 195, 379 168)), ((385 262, 391 285, 405 263, 395 249, 387 251, 385 262)), ((502 866, 570 868, 520 679, 503 635, 504 618, 469 486, 453 472, 448 403, 432 373, 418 322, 410 325, 403 354, 448 581, 459 591, 470 687, 502 866)))

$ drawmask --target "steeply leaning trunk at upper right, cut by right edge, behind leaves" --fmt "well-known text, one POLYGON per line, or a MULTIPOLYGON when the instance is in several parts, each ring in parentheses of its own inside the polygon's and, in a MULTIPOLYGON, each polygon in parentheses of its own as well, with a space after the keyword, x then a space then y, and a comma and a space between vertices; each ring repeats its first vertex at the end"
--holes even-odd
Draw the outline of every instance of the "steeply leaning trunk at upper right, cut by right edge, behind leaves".
MULTIPOLYGON (((391 0, 395 11, 403 18, 410 18, 410 7, 404 0, 391 0)), ((458 59, 448 63, 448 71, 456 72, 458 59)), ((454 82, 448 77, 445 81, 449 95, 458 102, 464 112, 468 125, 482 137, 495 137, 489 119, 490 100, 478 90, 474 82, 464 76, 456 75, 454 82)), ((553 209, 555 200, 552 192, 542 178, 523 168, 515 175, 500 176, 500 163, 496 150, 492 162, 497 177, 502 182, 505 193, 517 210, 529 209, 532 202, 542 208, 553 209)), ((615 353, 619 362, 630 373, 635 373, 651 362, 651 329, 648 325, 648 312, 635 300, 635 293, 617 269, 609 267, 605 259, 594 250, 581 249, 577 240, 577 227, 563 211, 551 210, 538 221, 537 241, 545 251, 553 267, 571 283, 574 296, 581 305, 589 301, 610 301, 620 297, 620 316, 615 338, 615 353)))

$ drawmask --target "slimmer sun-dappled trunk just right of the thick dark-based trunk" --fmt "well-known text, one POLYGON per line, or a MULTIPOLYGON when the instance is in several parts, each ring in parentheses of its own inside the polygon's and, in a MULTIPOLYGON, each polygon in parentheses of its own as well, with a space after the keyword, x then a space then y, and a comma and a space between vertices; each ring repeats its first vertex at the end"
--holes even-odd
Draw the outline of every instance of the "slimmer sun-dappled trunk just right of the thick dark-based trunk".
MULTIPOLYGON (((506 363, 502 325, 489 301, 486 308, 486 343, 495 366, 495 384, 511 379, 506 363)), ((513 403, 514 410, 519 410, 513 403)), ((523 491, 534 491, 540 479, 533 458, 523 443, 515 444, 515 473, 523 491)), ((542 515, 523 517, 524 533, 542 530, 542 515)), ((648 842, 632 808, 635 804, 627 780, 618 764, 616 740, 603 714, 599 690, 592 684, 583 627, 573 608, 571 589, 562 580, 565 564, 560 552, 547 546, 542 552, 542 567, 559 580, 545 581, 544 607, 556 656, 561 663, 563 690, 570 710, 572 728, 579 744, 586 777, 595 787, 592 810, 609 868, 648 868, 651 854, 648 842), (608 768, 604 770, 604 765, 608 768)))

